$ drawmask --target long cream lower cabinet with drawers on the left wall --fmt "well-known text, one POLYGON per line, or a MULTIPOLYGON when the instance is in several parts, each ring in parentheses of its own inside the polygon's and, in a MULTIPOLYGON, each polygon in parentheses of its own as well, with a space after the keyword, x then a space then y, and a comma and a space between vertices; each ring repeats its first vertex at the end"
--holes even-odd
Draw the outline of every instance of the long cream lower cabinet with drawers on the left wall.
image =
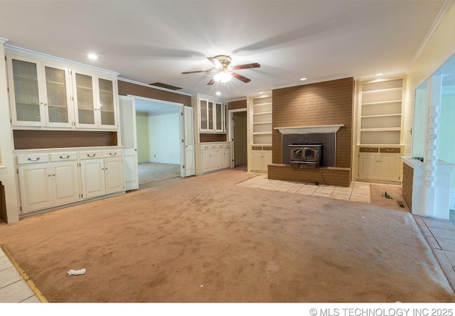
POLYGON ((16 157, 22 213, 124 191, 122 149, 16 157))

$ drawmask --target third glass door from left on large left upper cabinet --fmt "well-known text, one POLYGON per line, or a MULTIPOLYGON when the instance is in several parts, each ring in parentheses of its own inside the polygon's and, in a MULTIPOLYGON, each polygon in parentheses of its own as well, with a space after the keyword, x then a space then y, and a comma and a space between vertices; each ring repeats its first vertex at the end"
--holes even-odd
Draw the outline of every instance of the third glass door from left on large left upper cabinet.
POLYGON ((75 74, 77 123, 95 125, 92 76, 75 74))

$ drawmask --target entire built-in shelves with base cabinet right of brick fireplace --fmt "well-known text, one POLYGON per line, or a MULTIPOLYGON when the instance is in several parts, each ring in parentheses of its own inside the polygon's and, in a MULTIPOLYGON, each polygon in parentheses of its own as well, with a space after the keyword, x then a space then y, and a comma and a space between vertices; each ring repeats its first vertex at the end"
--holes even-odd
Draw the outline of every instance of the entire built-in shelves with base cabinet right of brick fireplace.
POLYGON ((360 82, 357 180, 402 179, 403 87, 402 77, 360 82))

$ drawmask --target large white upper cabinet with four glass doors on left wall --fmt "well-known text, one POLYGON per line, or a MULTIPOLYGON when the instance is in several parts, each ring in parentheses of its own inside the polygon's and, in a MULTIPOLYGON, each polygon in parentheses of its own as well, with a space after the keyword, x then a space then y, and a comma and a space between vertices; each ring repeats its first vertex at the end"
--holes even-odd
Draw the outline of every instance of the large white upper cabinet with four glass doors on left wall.
POLYGON ((117 129, 117 76, 6 55, 13 126, 117 129))

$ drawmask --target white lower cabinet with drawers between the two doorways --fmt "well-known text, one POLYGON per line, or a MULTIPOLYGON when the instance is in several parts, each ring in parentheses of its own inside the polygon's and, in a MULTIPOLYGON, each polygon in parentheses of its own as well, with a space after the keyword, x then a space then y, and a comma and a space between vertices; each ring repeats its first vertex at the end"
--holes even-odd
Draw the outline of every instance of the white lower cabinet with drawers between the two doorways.
POLYGON ((230 168, 230 143, 200 144, 200 173, 230 168))

